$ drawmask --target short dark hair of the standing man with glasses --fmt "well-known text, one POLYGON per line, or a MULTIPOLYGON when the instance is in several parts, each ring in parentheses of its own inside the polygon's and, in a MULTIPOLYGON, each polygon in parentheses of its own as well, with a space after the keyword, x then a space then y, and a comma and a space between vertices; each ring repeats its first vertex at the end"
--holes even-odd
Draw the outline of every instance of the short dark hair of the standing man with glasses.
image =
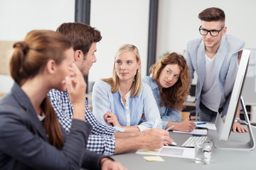
POLYGON ((220 8, 206 8, 198 14, 198 18, 201 21, 222 21, 225 23, 225 13, 220 8))

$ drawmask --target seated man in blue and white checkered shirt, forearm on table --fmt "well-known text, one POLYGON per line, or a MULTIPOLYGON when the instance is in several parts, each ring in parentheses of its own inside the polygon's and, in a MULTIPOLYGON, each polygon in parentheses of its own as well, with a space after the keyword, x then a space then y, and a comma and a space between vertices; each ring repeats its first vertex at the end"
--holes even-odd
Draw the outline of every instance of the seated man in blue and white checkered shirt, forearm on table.
MULTIPOLYGON (((73 42, 75 64, 83 75, 89 74, 90 67, 96 62, 96 43, 101 40, 100 31, 83 23, 63 23, 58 33, 66 35, 73 42)), ((58 120, 66 132, 69 132, 73 118, 73 105, 68 99, 67 91, 52 89, 48 94, 58 120)), ((143 132, 117 132, 114 128, 100 124, 85 99, 85 121, 90 123, 92 133, 87 141, 87 149, 99 154, 112 155, 129 152, 135 149, 159 149, 166 142, 173 142, 169 132, 161 129, 144 130, 143 132)))

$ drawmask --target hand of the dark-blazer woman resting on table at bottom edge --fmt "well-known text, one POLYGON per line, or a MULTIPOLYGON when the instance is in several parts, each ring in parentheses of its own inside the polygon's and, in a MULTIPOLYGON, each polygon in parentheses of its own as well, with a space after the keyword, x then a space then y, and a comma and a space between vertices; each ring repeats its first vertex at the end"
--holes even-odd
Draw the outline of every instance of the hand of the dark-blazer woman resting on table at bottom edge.
POLYGON ((100 160, 100 165, 102 170, 127 170, 121 163, 106 157, 100 160))

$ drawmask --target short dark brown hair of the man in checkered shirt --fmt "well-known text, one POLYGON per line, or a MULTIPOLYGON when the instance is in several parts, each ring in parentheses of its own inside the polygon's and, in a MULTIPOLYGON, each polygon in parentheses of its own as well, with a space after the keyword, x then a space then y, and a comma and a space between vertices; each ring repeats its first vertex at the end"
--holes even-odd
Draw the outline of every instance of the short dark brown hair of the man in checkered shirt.
POLYGON ((74 50, 82 50, 85 56, 92 43, 99 42, 102 39, 99 30, 85 23, 62 23, 56 32, 68 37, 73 43, 74 50))

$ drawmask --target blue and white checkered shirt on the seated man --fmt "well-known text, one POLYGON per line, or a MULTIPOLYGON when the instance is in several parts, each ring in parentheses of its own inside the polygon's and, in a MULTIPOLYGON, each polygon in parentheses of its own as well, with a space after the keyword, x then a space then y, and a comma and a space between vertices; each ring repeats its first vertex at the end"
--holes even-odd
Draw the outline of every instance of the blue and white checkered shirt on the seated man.
MULTIPOLYGON (((52 89, 48 93, 50 102, 57 113, 58 121, 66 132, 70 132, 73 119, 73 104, 68 99, 67 91, 58 91, 52 89)), ((92 125, 92 132, 87 141, 87 149, 98 154, 112 155, 114 154, 114 130, 100 124, 94 117, 85 99, 85 121, 92 125)))

